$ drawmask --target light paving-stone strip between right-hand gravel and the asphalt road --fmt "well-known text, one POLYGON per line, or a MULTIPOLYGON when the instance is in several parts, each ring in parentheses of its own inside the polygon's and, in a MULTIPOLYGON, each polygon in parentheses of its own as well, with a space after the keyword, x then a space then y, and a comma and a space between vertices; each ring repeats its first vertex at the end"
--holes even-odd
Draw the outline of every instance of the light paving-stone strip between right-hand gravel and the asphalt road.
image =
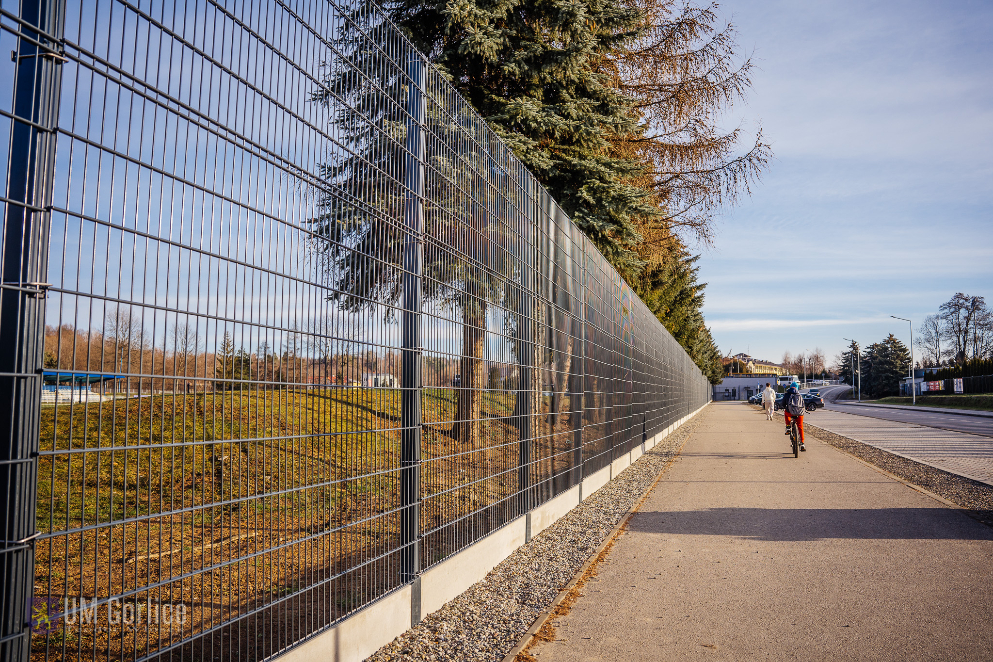
POLYGON ((993 438, 827 409, 803 418, 836 435, 993 485, 993 438))

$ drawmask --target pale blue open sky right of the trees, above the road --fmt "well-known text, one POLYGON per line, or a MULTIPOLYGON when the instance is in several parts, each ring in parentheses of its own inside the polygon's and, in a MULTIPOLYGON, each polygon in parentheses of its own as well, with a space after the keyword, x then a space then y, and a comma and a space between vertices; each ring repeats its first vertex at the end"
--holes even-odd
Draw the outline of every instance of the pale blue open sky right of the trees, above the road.
POLYGON ((700 248, 724 353, 908 341, 955 292, 993 305, 993 2, 732 0, 776 160, 700 248))

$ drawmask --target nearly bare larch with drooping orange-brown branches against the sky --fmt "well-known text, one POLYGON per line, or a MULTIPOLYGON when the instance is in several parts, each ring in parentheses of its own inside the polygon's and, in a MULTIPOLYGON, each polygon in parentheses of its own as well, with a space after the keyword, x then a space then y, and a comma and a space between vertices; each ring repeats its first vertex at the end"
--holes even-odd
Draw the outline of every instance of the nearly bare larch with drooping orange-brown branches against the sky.
POLYGON ((617 134, 614 145, 618 156, 645 165, 633 184, 651 192, 658 210, 638 223, 642 257, 650 260, 673 231, 708 241, 715 215, 749 194, 772 152, 761 126, 747 149, 742 127, 721 126, 725 111, 751 89, 753 64, 739 57, 735 28, 719 23, 717 5, 624 4, 638 12, 638 30, 601 67, 636 102, 641 130, 617 134))

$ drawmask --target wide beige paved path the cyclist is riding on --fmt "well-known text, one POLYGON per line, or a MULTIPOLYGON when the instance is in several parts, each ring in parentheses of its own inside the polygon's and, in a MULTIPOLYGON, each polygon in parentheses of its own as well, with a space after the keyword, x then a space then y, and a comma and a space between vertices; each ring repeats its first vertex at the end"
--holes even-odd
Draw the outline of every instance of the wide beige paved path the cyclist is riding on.
POLYGON ((993 529, 715 403, 538 660, 990 660, 993 529))

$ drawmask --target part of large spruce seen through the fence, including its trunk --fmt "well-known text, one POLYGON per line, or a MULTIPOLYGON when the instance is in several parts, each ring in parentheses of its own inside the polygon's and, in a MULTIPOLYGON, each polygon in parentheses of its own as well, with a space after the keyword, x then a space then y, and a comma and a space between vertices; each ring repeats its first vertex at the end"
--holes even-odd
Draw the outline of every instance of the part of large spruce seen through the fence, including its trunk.
MULTIPOLYGON (((388 27, 370 18, 369 11, 358 7, 352 20, 372 36, 358 28, 344 29, 336 42, 342 63, 328 66, 324 87, 311 97, 334 111, 340 140, 350 148, 324 165, 322 212, 311 223, 331 299, 348 312, 384 305, 390 317, 402 284, 404 231, 397 216, 406 194, 395 172, 405 162, 409 118, 403 108, 411 89, 406 78, 395 75, 395 63, 379 50, 366 48, 367 40, 391 39, 388 27)), ((444 94, 439 89, 429 92, 444 94)), ((444 112, 427 113, 425 122, 426 151, 438 157, 432 164, 441 177, 425 183, 424 224, 430 240, 423 244, 421 297, 455 313, 460 323, 461 384, 450 433, 460 442, 480 446, 487 315, 492 306, 514 296, 513 288, 508 294, 507 284, 515 263, 508 251, 496 248, 514 239, 512 230, 491 213, 505 203, 489 186, 492 158, 478 149, 466 127, 444 112)), ((513 301, 506 303, 505 308, 513 307, 513 301)), ((540 397, 540 382, 537 393, 540 397)))

